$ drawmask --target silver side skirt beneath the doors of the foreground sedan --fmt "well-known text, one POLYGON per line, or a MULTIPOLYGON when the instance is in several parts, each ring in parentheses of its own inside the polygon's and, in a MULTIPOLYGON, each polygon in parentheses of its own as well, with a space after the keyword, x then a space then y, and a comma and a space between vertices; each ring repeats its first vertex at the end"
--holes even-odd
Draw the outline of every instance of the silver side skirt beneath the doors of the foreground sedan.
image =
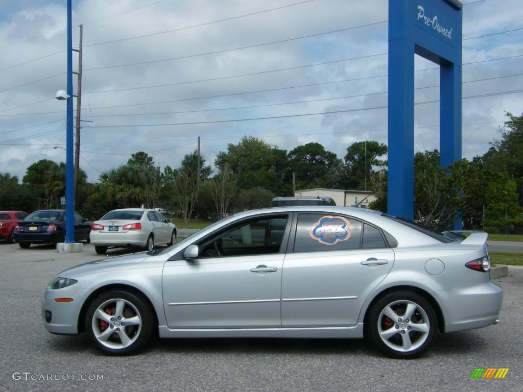
POLYGON ((353 327, 324 328, 230 328, 230 329, 171 329, 159 326, 161 338, 363 338, 363 323, 353 327))

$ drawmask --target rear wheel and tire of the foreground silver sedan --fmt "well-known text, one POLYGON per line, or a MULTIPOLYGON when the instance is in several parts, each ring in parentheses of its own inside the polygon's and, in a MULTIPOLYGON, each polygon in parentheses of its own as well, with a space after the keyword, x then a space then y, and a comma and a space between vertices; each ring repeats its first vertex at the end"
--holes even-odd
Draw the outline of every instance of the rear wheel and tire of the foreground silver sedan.
POLYGON ((397 359, 423 355, 437 331, 438 318, 434 307, 423 296, 411 291, 392 292, 379 298, 369 308, 365 320, 366 336, 385 355, 397 359), (404 318, 407 306, 414 309, 410 320, 404 318), (386 330, 391 333, 382 338, 380 332, 386 330))

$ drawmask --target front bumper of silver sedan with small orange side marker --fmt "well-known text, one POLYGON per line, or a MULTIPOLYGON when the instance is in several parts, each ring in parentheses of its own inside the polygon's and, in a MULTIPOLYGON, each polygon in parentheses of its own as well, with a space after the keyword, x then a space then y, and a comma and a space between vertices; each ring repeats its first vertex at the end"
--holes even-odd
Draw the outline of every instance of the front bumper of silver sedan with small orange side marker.
POLYGON ((78 283, 57 290, 47 288, 42 299, 42 320, 44 327, 46 327, 49 332, 58 335, 76 335, 78 333, 78 317, 82 309, 82 304, 84 303, 83 300, 86 292, 87 289, 82 289, 78 283), (54 301, 55 298, 64 297, 73 298, 73 301, 54 301))

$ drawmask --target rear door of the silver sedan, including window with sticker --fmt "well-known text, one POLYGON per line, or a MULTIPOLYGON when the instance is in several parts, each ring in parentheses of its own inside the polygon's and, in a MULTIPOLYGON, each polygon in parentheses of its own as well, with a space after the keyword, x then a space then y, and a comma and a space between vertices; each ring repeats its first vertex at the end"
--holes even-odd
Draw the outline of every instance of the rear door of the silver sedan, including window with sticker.
POLYGON ((348 216, 300 213, 293 232, 283 263, 282 326, 356 325, 394 262, 381 230, 348 216))

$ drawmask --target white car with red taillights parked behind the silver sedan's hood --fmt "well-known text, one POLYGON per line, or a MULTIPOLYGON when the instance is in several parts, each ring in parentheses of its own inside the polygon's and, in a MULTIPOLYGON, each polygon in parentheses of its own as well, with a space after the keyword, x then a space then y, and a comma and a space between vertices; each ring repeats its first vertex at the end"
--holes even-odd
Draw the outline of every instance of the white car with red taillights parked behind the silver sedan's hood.
POLYGON ((176 244, 176 226, 161 213, 141 208, 112 210, 91 226, 91 244, 96 253, 108 247, 145 247, 176 244))

